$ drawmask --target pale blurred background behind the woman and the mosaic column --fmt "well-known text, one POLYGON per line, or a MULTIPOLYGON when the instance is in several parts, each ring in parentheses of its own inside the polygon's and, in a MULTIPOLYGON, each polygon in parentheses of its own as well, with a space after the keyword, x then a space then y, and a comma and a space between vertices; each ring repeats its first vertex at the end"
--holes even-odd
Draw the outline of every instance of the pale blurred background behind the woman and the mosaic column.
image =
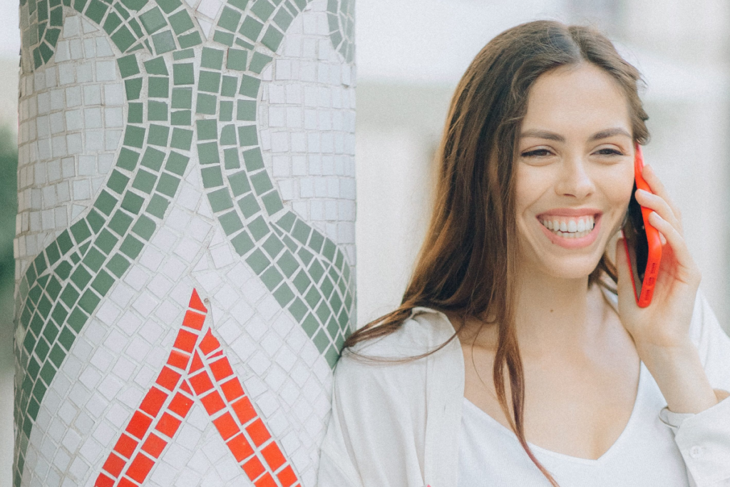
MULTIPOLYGON (((431 207, 432 158, 461 74, 499 32, 550 18, 601 28, 644 74, 645 158, 683 211, 702 289, 730 329, 730 2, 358 0, 358 323, 400 302, 431 207)), ((0 487, 12 459, 17 0, 0 2, 0 487)))

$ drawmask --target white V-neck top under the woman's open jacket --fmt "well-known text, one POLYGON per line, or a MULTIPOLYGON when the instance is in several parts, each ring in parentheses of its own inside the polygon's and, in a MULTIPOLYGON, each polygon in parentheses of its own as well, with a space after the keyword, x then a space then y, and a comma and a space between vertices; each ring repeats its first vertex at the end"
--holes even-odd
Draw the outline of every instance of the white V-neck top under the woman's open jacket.
MULTIPOLYGON (((666 406, 641 364, 634 409, 625 429, 599 459, 581 459, 529 444, 561 487, 688 487, 675 435, 659 419, 666 406)), ((550 486, 512 430, 464 398, 459 432, 458 487, 550 486)))

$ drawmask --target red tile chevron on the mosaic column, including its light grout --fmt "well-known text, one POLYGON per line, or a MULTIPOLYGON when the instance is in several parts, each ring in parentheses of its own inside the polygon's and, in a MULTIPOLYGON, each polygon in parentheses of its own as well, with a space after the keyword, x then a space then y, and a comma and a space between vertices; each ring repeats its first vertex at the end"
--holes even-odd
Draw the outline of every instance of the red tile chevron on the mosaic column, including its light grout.
POLYGON ((193 289, 167 363, 104 462, 96 487, 141 486, 196 401, 255 487, 300 487, 220 342, 204 325, 207 311, 193 289))

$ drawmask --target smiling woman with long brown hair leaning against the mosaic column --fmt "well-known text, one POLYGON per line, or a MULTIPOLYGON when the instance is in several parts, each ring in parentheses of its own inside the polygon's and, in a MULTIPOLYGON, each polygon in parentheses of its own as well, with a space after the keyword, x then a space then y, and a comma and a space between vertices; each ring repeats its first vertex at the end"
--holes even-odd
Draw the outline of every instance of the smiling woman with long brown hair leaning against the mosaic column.
POLYGON ((320 487, 730 485, 730 340, 649 166, 649 307, 613 243, 648 139, 638 81, 555 22, 477 55, 403 302, 337 366, 320 487))

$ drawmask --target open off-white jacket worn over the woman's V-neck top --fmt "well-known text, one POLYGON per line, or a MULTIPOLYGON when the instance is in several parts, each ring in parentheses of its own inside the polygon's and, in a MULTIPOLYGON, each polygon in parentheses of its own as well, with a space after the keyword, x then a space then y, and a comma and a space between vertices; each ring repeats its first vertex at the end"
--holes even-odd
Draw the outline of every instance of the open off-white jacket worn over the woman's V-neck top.
MULTIPOLYGON (((356 351, 385 359, 416 356, 453 333, 442 312, 417 307, 398 331, 358 344, 356 351)), ((699 293, 691 338, 712 387, 730 391, 730 339, 699 293)), ((334 373, 318 486, 457 487, 463 402, 458 338, 426 358, 399 364, 345 352, 334 373)), ((675 415, 665 408, 661 418, 675 430, 692 485, 730 486, 730 399, 697 415, 675 415)))

